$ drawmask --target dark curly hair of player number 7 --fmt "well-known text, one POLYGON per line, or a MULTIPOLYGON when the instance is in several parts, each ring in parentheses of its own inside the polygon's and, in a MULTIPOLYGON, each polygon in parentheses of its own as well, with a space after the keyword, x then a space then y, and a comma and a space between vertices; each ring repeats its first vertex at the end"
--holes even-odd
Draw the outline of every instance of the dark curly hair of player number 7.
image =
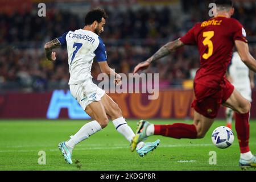
POLYGON ((85 25, 89 25, 92 24, 95 20, 100 23, 102 18, 109 18, 106 14, 106 11, 100 8, 93 9, 85 15, 84 23, 85 25))

